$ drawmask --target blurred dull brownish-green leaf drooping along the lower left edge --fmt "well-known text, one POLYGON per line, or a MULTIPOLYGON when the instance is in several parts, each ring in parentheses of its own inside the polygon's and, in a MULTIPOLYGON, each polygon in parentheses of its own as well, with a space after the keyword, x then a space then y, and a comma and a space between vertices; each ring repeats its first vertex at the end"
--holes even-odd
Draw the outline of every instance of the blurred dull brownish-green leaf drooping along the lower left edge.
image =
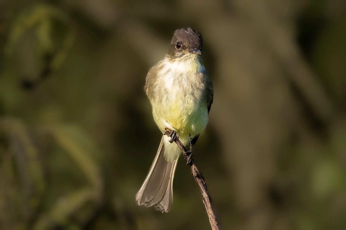
MULTIPOLYGON (((17 196, 22 197, 17 203, 18 210, 20 210, 22 218, 28 219, 33 214, 33 210, 38 207, 46 187, 38 149, 32 142, 26 127, 20 121, 12 118, 0 119, 0 129, 9 142, 6 154, 13 154, 16 162, 13 168, 3 168, 9 173, 5 179, 8 183, 15 184, 16 172, 14 171, 18 171, 21 185, 17 196)), ((7 160, 9 159, 7 158, 7 160)), ((13 197, 8 197, 8 199, 11 198, 13 197)))

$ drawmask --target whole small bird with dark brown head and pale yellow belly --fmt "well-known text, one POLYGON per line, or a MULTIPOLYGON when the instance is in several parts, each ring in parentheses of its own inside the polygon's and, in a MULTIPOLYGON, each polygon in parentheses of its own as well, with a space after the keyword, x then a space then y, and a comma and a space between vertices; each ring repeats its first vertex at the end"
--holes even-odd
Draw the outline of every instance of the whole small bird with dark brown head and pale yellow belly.
MULTIPOLYGON (((202 36, 199 32, 179 29, 174 32, 171 49, 153 66, 146 77, 145 92, 152 104, 158 128, 180 134, 186 146, 194 144, 206 128, 213 101, 213 86, 201 63, 202 36)), ((154 162, 136 195, 138 205, 155 205, 168 212, 173 201, 173 177, 181 154, 171 138, 163 136, 154 162)))

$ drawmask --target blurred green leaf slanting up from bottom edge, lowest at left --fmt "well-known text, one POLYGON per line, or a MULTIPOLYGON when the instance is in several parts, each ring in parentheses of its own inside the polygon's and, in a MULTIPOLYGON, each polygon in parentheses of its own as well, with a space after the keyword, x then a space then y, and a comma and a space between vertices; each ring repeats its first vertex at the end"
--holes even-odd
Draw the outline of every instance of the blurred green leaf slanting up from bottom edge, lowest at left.
POLYGON ((72 213, 86 202, 94 200, 94 193, 94 189, 86 187, 58 198, 54 206, 35 223, 34 229, 51 229, 53 226, 65 224, 72 213))

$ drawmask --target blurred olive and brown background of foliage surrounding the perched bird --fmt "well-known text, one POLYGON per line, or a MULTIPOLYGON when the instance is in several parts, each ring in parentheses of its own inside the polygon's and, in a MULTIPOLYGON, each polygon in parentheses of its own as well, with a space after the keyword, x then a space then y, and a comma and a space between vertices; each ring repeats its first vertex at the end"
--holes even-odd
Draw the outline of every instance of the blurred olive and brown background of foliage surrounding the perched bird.
POLYGON ((160 143, 143 87, 173 32, 214 86, 194 148, 221 229, 346 226, 346 2, 0 2, 0 229, 210 229, 181 159, 173 208, 137 206, 160 143))

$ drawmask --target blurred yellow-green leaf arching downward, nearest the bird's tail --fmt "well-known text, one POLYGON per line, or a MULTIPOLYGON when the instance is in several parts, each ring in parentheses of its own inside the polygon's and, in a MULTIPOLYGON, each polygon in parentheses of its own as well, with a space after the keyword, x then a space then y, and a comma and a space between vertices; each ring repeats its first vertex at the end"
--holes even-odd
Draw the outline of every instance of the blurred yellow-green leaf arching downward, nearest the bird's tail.
POLYGON ((102 182, 96 161, 97 147, 93 140, 76 126, 55 126, 48 128, 56 142, 63 147, 70 157, 84 172, 85 177, 95 189, 95 196, 100 194, 102 182))

